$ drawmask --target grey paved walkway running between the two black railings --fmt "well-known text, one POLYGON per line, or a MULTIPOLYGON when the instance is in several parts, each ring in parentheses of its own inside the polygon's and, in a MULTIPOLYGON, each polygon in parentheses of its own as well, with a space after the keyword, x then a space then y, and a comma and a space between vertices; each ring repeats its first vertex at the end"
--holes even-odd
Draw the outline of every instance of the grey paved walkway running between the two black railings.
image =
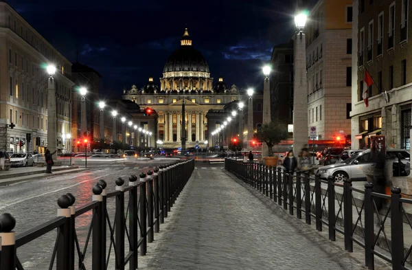
POLYGON ((224 170, 196 168, 139 269, 364 269, 224 170))

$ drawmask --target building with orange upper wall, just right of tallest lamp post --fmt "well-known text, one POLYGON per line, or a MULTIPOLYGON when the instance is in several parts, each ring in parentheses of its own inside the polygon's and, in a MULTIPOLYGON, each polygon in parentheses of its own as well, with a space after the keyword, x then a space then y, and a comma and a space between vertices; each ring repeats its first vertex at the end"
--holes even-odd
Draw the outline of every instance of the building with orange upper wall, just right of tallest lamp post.
POLYGON ((305 27, 308 127, 317 139, 351 133, 352 19, 352 0, 319 0, 305 27))

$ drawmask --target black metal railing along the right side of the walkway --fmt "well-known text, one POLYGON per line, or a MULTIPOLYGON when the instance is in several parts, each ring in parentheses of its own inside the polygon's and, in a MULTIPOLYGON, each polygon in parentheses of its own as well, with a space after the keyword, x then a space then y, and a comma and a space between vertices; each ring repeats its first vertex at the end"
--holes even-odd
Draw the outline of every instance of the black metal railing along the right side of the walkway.
POLYGON ((405 230, 412 230, 404 207, 412 200, 402 198, 400 188, 392 188, 391 195, 381 194, 374 192, 372 183, 365 183, 365 189, 359 190, 352 186, 351 179, 336 183, 334 177, 323 180, 318 174, 312 177, 309 172, 299 171, 293 175, 280 167, 230 159, 225 159, 225 169, 283 205, 289 214, 296 211, 299 219, 304 214, 308 225, 314 218, 319 232, 328 228, 330 240, 336 240, 336 233, 342 234, 345 250, 353 252, 353 243, 365 249, 368 269, 374 269, 374 256, 391 263, 392 269, 412 269, 412 243, 404 235, 405 230), (382 202, 387 205, 379 211, 382 202))

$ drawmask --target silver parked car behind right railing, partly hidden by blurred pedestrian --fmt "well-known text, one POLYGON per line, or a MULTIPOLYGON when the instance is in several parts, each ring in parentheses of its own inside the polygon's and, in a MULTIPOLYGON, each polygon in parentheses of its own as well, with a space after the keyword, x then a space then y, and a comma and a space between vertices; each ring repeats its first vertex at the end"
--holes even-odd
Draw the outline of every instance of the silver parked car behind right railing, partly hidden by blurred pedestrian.
MULTIPOLYGON (((387 150, 387 159, 393 157, 402 157, 400 164, 398 160, 393 161, 393 171, 401 168, 400 176, 409 175, 410 159, 411 156, 409 152, 404 149, 389 149, 387 150)), ((321 174, 321 179, 327 179, 328 176, 332 175, 334 181, 340 182, 343 179, 356 180, 366 180, 365 170, 371 169, 374 166, 374 162, 371 159, 371 151, 365 150, 363 152, 358 152, 352 155, 349 159, 346 159, 341 164, 332 164, 328 166, 323 166, 317 170, 321 174)), ((394 176, 397 176, 394 174, 394 176)))

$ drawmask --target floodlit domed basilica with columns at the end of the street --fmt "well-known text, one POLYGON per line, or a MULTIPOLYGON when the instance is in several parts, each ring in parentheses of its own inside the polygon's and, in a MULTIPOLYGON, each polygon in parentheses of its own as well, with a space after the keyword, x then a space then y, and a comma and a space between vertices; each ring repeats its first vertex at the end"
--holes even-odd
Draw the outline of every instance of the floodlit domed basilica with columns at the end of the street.
MULTIPOLYGON (((227 87, 222 77, 213 83, 207 61, 194 49, 185 29, 179 49, 165 63, 159 85, 150 77, 140 89, 135 85, 124 89, 122 98, 137 103, 140 109, 150 108, 157 113, 152 146, 161 140, 163 148, 179 148, 185 133, 186 147, 190 148, 196 144, 211 146, 209 133, 218 128, 220 122, 208 123, 207 112, 222 110, 241 97, 242 91, 236 85, 227 87), (182 115, 183 103, 185 115, 182 115), (185 121, 185 131, 182 131, 182 121, 185 121)), ((144 119, 133 119, 133 122, 144 123, 144 119)))

